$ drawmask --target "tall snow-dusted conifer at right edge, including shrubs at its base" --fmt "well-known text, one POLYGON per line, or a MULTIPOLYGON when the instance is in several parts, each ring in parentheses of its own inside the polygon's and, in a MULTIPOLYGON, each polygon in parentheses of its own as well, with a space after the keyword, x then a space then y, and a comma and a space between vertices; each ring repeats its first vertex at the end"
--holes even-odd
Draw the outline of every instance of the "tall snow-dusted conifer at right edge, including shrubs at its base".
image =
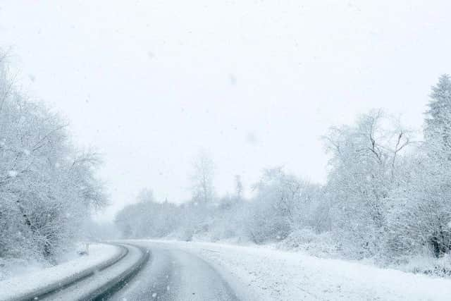
POLYGON ((389 246, 395 254, 451 251, 451 80, 432 87, 424 123, 425 142, 409 162, 409 176, 390 215, 389 246))

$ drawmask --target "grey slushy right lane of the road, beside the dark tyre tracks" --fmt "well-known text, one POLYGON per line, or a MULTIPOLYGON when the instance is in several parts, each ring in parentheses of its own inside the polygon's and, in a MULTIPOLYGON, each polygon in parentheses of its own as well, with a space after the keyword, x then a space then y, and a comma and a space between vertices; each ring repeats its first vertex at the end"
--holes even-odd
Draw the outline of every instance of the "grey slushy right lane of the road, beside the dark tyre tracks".
POLYGON ((150 259, 109 300, 238 300, 230 285, 204 260, 157 242, 132 242, 150 259))

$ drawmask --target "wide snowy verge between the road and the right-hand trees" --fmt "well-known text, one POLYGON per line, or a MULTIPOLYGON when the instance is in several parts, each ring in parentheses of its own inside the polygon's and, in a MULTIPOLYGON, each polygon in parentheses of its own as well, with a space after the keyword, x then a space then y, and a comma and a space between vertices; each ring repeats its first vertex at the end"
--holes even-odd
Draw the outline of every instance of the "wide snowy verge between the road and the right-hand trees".
POLYGON ((247 286, 256 300, 451 300, 451 279, 265 247, 166 243, 198 254, 228 273, 227 280, 247 286))

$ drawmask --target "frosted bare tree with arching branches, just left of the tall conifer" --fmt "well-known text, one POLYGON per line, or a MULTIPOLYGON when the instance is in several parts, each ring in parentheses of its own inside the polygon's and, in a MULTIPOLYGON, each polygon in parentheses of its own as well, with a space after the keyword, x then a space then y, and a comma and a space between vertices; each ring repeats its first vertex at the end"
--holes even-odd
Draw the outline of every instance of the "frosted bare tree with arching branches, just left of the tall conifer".
POLYGON ((397 119, 381 110, 361 116, 354 126, 331 128, 326 135, 332 226, 350 256, 381 251, 388 197, 399 185, 400 155, 411 139, 397 119))

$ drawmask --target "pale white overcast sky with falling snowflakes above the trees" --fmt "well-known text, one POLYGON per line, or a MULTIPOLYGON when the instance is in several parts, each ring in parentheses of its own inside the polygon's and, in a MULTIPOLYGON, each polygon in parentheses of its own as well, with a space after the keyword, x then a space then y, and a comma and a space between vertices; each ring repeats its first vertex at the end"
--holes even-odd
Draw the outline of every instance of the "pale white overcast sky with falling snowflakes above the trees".
POLYGON ((0 0, 21 83, 104 153, 109 219, 142 188, 189 197, 199 149, 216 188, 284 165, 326 176, 319 136, 382 107, 420 127, 451 73, 451 1, 0 0))

